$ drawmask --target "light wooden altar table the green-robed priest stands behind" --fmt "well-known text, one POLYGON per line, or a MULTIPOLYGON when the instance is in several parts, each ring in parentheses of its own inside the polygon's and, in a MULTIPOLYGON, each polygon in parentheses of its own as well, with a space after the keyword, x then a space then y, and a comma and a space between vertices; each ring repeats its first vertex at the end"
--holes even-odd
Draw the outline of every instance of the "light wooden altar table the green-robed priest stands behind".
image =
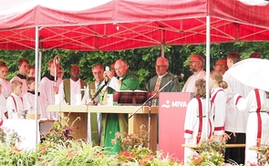
POLYGON ((140 126, 143 124, 149 129, 149 112, 150 112, 150 150, 157 150, 157 114, 158 107, 140 107, 140 106, 69 106, 69 105, 50 105, 48 111, 61 112, 61 117, 67 117, 69 114, 68 124, 73 122, 74 119, 80 117, 74 123, 74 126, 78 127, 78 130, 74 130, 75 139, 87 140, 88 131, 88 113, 128 113, 131 115, 136 110, 132 118, 129 119, 129 134, 139 133, 140 126))

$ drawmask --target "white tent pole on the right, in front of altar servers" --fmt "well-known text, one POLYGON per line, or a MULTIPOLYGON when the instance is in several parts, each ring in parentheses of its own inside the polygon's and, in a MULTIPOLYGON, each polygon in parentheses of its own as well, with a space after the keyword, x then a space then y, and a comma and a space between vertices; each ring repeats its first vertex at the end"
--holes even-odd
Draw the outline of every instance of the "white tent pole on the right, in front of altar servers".
MULTIPOLYGON (((205 60, 205 67, 206 67, 206 126, 209 128, 209 111, 210 111, 210 87, 209 87, 209 81, 210 81, 210 16, 206 16, 206 60, 205 60)), ((209 135, 209 131, 207 130, 206 135, 209 135)))

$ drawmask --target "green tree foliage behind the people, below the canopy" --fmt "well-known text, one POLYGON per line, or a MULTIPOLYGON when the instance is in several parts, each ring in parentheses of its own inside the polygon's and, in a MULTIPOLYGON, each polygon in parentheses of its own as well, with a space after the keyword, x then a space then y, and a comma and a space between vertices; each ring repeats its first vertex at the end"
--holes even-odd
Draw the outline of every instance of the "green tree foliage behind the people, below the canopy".
MULTIPOLYGON (((216 60, 226 58, 229 52, 238 51, 242 58, 247 58, 254 51, 261 52, 264 58, 268 58, 268 42, 236 42, 225 44, 212 44, 210 51, 211 69, 216 60)), ((164 56, 170 61, 169 72, 171 74, 184 73, 185 77, 179 79, 181 86, 191 76, 189 70, 190 55, 199 54, 205 58, 205 45, 166 46, 164 56)), ((42 51, 41 75, 47 73, 47 62, 49 59, 60 55, 60 65, 65 68, 64 78, 69 78, 69 68, 78 65, 81 70, 80 78, 91 82, 94 80, 91 67, 102 64, 104 67, 117 59, 124 59, 129 64, 129 69, 140 79, 140 88, 143 89, 150 78, 156 75, 155 62, 160 57, 160 47, 148 47, 131 50, 108 51, 108 52, 86 52, 73 50, 46 50, 42 51)), ((17 60, 26 57, 30 65, 35 65, 35 50, 0 50, 0 60, 9 67, 7 79, 17 74, 17 60)))

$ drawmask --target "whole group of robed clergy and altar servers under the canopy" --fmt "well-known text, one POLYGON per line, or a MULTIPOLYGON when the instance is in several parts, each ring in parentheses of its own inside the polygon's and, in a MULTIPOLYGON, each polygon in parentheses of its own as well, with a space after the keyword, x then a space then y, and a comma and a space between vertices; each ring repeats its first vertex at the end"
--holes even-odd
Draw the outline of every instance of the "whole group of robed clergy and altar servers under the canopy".
MULTIPOLYGON (((251 57, 261 58, 261 54, 255 52, 251 57)), ((191 55, 190 71, 193 75, 181 89, 178 79, 168 72, 169 60, 158 57, 155 64, 156 76, 150 78, 143 90, 148 91, 150 96, 155 95, 152 105, 159 104, 159 92, 192 92, 194 98, 188 104, 184 124, 185 144, 195 145, 201 140, 212 136, 222 137, 226 133, 230 137, 227 143, 245 143, 245 148, 226 149, 226 160, 237 163, 257 162, 258 154, 249 150, 249 147, 269 140, 269 126, 265 125, 269 122, 269 95, 264 90, 244 86, 225 72, 240 60, 238 52, 231 52, 227 59, 215 63, 210 80, 206 80, 204 58, 191 55), (169 81, 171 83, 162 88, 169 81), (206 81, 210 81, 211 88, 209 110, 205 109, 206 81)), ((122 59, 106 68, 100 64, 93 66, 91 71, 95 80, 89 84, 80 79, 80 68, 76 65, 70 67, 70 78, 63 80, 64 68, 50 59, 47 62, 49 72, 40 80, 37 90, 35 67, 29 67, 26 58, 19 59, 17 66, 18 74, 8 81, 5 79, 8 67, 0 61, 1 120, 14 119, 16 113, 25 110, 34 114, 35 91, 38 91, 36 109, 41 119, 58 119, 57 112, 47 111, 48 105, 98 105, 106 101, 108 94, 114 91, 140 88, 139 79, 129 71, 129 65, 122 59), (102 93, 96 94, 100 88, 102 93)), ((88 113, 88 141, 94 141, 112 153, 117 153, 120 150, 119 144, 111 142, 117 132, 128 132, 127 114, 88 113)), ((195 151, 185 148, 185 163, 194 153, 195 151)))

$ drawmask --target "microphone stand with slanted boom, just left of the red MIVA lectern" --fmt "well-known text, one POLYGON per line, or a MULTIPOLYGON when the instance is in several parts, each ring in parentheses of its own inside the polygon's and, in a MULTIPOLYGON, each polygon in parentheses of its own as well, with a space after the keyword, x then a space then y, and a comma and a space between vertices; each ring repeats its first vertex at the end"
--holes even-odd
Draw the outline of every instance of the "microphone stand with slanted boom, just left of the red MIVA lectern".
MULTIPOLYGON (((174 76, 174 78, 171 78, 170 81, 168 81, 163 87, 159 88, 159 90, 154 93, 149 99, 147 99, 142 105, 140 105, 139 109, 135 110, 130 116, 129 119, 132 118, 143 106, 145 106, 147 103, 149 103, 149 127, 148 127, 148 148, 150 149, 150 120, 151 120, 151 101, 155 98, 155 96, 162 90, 163 88, 166 88, 171 81, 173 81, 177 76, 174 76)), ((157 136, 158 137, 158 136, 157 136)))

